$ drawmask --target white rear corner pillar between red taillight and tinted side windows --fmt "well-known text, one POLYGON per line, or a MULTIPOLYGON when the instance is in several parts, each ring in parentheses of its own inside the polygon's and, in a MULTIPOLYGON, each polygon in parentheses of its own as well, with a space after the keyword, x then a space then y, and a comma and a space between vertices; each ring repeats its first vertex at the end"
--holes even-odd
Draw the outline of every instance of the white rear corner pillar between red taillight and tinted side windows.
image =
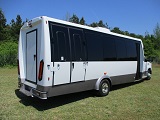
POLYGON ((42 80, 37 81, 37 85, 40 86, 52 86, 53 84, 53 63, 51 62, 51 45, 50 45, 50 34, 49 26, 46 19, 42 19, 42 24, 40 26, 39 43, 37 47, 37 52, 39 53, 37 62, 37 76, 39 74, 40 61, 44 61, 42 80))

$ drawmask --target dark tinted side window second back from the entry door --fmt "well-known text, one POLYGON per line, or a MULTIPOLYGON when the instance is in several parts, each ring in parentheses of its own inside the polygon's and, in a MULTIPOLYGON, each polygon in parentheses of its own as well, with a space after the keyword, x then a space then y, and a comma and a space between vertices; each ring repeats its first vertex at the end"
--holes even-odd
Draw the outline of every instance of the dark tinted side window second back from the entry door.
POLYGON ((127 53, 126 53, 126 45, 125 45, 125 39, 115 37, 116 42, 116 51, 117 51, 117 60, 126 60, 127 59, 127 53))

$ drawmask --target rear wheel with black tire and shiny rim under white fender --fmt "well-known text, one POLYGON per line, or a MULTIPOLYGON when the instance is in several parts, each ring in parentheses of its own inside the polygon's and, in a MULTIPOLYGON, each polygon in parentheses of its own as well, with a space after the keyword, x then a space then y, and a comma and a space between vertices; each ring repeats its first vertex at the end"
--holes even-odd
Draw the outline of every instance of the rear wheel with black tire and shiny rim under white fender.
POLYGON ((97 91, 97 95, 100 97, 107 96, 110 91, 110 83, 108 80, 102 80, 99 84, 99 90, 97 91))

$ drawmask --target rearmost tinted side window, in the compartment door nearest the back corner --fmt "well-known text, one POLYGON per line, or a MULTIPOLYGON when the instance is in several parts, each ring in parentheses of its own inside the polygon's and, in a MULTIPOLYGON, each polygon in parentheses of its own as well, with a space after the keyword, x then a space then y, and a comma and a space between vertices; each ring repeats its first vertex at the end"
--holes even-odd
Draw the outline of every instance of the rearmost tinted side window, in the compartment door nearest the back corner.
POLYGON ((68 29, 50 23, 51 36, 51 61, 69 61, 69 36, 68 29))

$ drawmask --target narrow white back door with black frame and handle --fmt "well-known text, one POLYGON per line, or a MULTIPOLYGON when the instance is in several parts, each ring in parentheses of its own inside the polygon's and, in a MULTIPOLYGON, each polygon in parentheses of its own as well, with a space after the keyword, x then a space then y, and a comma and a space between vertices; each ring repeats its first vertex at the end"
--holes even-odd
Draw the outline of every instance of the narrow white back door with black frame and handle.
POLYGON ((37 82, 37 29, 26 34, 26 79, 29 82, 37 82))

